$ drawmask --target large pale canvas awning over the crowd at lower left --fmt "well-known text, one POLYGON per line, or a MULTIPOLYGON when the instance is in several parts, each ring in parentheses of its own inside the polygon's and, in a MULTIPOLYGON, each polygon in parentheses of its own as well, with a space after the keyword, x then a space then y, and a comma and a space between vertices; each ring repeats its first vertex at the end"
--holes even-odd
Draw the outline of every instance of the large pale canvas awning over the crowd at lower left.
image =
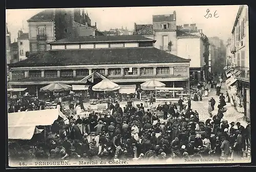
POLYGON ((8 139, 30 140, 36 126, 52 125, 58 116, 58 109, 9 113, 8 139))

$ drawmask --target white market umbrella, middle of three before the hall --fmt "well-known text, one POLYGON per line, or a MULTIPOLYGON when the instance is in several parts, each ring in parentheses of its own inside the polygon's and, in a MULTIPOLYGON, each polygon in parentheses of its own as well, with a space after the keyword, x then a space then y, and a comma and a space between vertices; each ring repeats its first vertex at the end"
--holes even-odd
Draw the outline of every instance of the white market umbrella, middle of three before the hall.
POLYGON ((109 79, 103 79, 93 86, 93 91, 114 91, 119 90, 120 86, 109 79))

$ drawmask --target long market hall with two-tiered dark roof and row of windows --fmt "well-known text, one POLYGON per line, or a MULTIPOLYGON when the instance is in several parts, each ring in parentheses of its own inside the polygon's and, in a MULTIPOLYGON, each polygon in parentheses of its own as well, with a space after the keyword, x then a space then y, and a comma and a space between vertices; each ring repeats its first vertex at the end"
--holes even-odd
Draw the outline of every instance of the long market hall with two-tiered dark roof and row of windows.
POLYGON ((70 37, 50 42, 51 49, 9 65, 11 88, 34 94, 53 82, 86 84, 98 72, 119 85, 156 79, 166 87, 189 89, 190 59, 154 48, 141 35, 70 37), (37 91, 36 91, 37 90, 37 91))

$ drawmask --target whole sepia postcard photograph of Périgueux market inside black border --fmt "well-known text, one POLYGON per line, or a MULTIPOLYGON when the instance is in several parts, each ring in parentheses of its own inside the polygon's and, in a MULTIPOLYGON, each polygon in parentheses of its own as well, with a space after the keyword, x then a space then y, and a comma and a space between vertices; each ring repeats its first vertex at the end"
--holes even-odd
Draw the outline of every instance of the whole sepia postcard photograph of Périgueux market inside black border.
POLYGON ((251 162, 247 5, 6 10, 8 166, 251 162))

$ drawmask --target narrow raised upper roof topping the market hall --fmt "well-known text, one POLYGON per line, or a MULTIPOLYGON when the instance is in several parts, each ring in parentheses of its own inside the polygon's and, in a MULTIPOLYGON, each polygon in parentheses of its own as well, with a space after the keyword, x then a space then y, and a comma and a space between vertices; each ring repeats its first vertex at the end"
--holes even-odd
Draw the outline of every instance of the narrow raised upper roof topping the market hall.
POLYGON ((103 35, 103 36, 79 36, 60 39, 49 44, 63 44, 74 42, 133 42, 133 41, 155 41, 141 35, 103 35))

